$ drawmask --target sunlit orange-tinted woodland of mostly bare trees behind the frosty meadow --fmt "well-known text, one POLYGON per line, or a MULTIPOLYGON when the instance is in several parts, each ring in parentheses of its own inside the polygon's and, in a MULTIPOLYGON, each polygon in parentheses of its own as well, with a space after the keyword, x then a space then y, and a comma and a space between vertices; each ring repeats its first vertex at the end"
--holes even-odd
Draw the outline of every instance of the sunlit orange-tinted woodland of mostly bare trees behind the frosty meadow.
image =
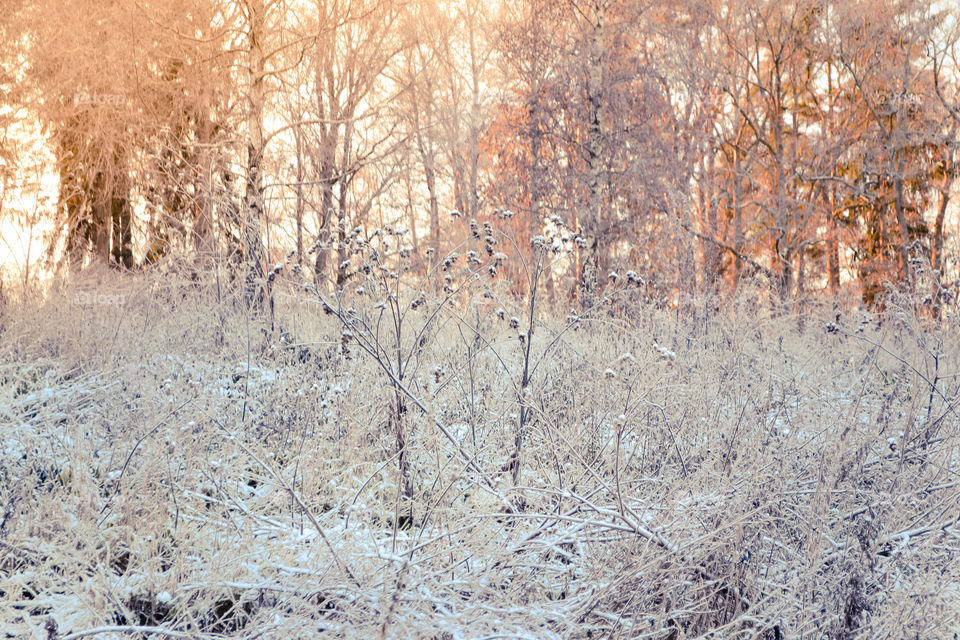
POLYGON ((425 276, 470 250, 515 290, 546 244, 560 302, 629 271, 671 305, 745 277, 955 304, 951 3, 4 4, 0 223, 25 286, 217 264, 255 305, 278 263, 348 286, 352 241, 389 228, 409 232, 385 259, 425 276))

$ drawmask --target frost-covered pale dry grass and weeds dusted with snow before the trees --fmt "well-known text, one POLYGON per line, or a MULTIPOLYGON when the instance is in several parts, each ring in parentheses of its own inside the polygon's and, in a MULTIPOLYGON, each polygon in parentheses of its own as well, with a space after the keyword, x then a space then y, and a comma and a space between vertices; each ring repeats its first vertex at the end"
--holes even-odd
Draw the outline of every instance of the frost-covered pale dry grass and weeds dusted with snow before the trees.
POLYGON ((955 319, 545 312, 522 392, 523 305, 426 305, 425 414, 291 289, 118 288, 3 321, 3 637, 960 632, 955 319))

